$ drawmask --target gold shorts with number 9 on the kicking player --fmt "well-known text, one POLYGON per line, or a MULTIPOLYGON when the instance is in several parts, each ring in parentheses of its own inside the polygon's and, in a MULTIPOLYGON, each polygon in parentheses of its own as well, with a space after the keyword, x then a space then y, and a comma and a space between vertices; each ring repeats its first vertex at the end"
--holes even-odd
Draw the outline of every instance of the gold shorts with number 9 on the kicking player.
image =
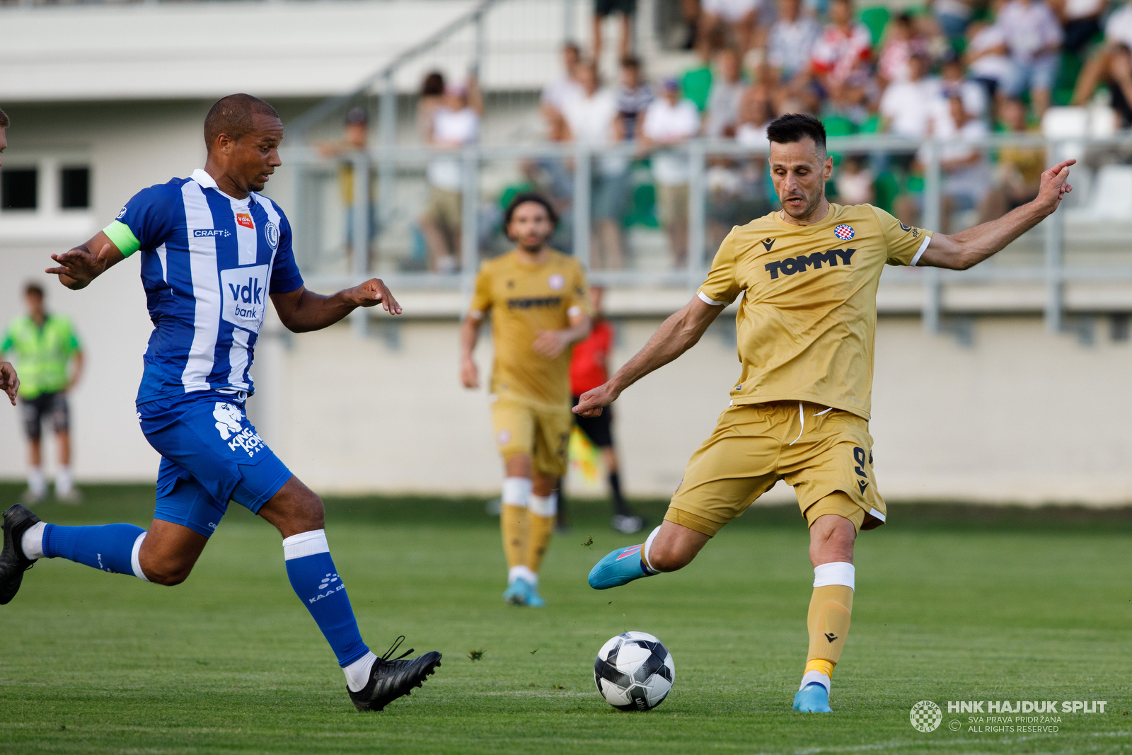
POLYGON ((664 518, 714 537, 786 480, 807 525, 838 514, 872 530, 885 517, 872 448, 868 422, 851 412, 797 401, 729 406, 688 460, 664 518))

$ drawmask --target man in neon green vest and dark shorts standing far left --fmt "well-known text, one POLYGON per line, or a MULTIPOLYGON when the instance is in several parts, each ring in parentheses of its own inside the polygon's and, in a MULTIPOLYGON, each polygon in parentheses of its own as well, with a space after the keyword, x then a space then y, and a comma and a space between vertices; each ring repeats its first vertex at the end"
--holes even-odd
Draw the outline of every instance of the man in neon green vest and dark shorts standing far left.
POLYGON ((63 315, 49 314, 43 307, 43 289, 28 283, 24 289, 27 315, 8 326, 0 357, 12 353, 19 367, 19 403, 27 434, 29 469, 27 503, 42 500, 48 494, 43 477, 43 422, 50 421, 59 438, 59 470, 55 474, 55 497, 65 503, 78 503, 70 472, 70 411, 67 392, 83 372, 83 349, 63 315))

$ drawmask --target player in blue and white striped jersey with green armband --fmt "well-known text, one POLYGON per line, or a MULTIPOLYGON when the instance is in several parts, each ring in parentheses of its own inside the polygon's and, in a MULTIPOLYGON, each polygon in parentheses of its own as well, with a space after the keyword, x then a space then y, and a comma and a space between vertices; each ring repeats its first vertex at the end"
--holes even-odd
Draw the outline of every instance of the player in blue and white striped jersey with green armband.
MULTIPOLYGON (((358 710, 381 710, 419 687, 440 654, 381 658, 362 642, 323 529, 323 501, 267 447, 248 421, 251 361, 268 299, 295 333, 317 331, 358 307, 401 307, 372 278, 324 297, 303 286, 291 225, 258 194, 281 164, 283 123, 247 94, 213 105, 205 119, 208 156, 190 178, 143 189, 85 244, 52 255, 48 269, 83 289, 140 251, 142 283, 154 324, 137 395, 137 417, 161 454, 149 530, 132 524, 68 527, 23 506, 3 514, 0 604, 38 558, 66 558, 146 582, 185 581, 235 500, 283 537, 288 576, 346 676, 358 710)), ((403 637, 401 638, 403 640, 403 637)))

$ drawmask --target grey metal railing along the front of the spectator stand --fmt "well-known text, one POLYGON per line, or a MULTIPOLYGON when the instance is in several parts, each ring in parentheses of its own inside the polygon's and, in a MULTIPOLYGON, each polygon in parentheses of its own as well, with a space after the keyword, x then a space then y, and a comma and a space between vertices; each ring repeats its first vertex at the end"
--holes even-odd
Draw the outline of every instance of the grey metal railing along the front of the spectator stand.
MULTIPOLYGON (((944 197, 944 171, 942 152, 947 146, 941 141, 915 143, 891 137, 844 137, 830 139, 829 151, 839 155, 861 155, 873 161, 900 162, 903 156, 907 162, 910 155, 918 152, 925 163, 923 172, 923 211, 919 225, 927 229, 942 226, 942 206, 944 197)), ((1047 140, 1036 136, 1004 135, 987 138, 970 146, 994 153, 1005 147, 1041 149, 1045 152, 1046 165, 1054 164, 1064 156, 1079 156, 1082 161, 1074 173, 1088 179, 1092 172, 1089 164, 1123 164, 1132 162, 1132 135, 1120 135, 1107 139, 1063 139, 1047 140), (1112 153, 1112 154, 1108 154, 1112 153), (1107 157, 1106 157, 1107 155, 1107 157), (1114 160, 1115 156, 1115 160, 1114 160)), ((675 148, 688 161, 688 205, 687 205, 687 247, 686 263, 681 267, 645 269, 591 269, 590 277, 594 282, 608 286, 659 286, 687 288, 698 286, 706 275, 713 248, 709 248, 706 233, 706 215, 711 208, 707 192, 706 173, 711 161, 730 160, 765 161, 765 152, 745 148, 730 140, 697 139, 675 148)), ((501 173, 506 170, 521 173, 521 168, 532 163, 556 165, 568 175, 569 196, 568 214, 564 218, 573 229, 572 240, 566 249, 576 256, 583 265, 592 267, 591 263, 591 189, 593 188, 594 162, 602 157, 621 156, 626 160, 640 160, 638 147, 632 143, 597 148, 584 144, 516 144, 498 146, 470 146, 462 152, 438 152, 426 147, 377 147, 367 152, 342 155, 333 160, 319 157, 315 151, 306 147, 288 151, 285 161, 292 168, 298 166, 297 195, 294 208, 294 226, 297 229, 297 249, 300 252, 300 264, 308 275, 323 278, 328 285, 345 284, 360 280, 371 273, 377 273, 393 281, 402 289, 434 289, 463 291, 470 293, 475 271, 481 259, 497 254, 506 248, 500 240, 498 229, 499 190, 491 189, 484 180, 486 174, 501 173), (405 265, 406 241, 404 229, 412 229, 418 222, 419 208, 411 198, 412 186, 417 186, 417 197, 424 192, 424 166, 437 158, 458 158, 461 165, 460 189, 460 246, 458 269, 451 272, 430 272, 411 269, 405 265), (335 221, 327 218, 333 211, 333 200, 327 201, 331 194, 326 191, 328 177, 341 170, 344 162, 352 166, 353 207, 349 211, 350 237, 352 239, 370 239, 365 254, 359 247, 358 254, 350 257, 349 271, 341 264, 335 268, 327 265, 327 257, 319 257, 319 250, 334 246, 337 241, 327 240, 335 221), (379 178, 376 187, 371 186, 371 172, 377 166, 379 178), (508 168, 509 166, 509 168, 508 168), (506 170, 505 170, 506 169, 506 170), (383 173, 383 171, 385 171, 383 173), (321 185, 321 189, 317 187, 321 185), (375 191, 376 189, 376 191, 375 191), (323 201, 315 201, 314 194, 321 191, 323 201), (378 207, 372 213, 371 203, 378 207), (481 212, 484 208, 491 213, 481 212), (372 217, 377 217, 379 228, 370 228, 372 217), (492 226, 494 224, 494 226, 492 226), (401 229, 401 230, 398 230, 401 229), (400 233, 400 235, 398 235, 400 233), (494 235, 492 235, 494 233, 494 235)), ((640 165, 640 163, 637 163, 640 165)), ((765 163, 763 163, 765 171, 765 163)), ((1123 170, 1123 169, 1122 169, 1123 170)), ((1132 165, 1127 168, 1132 180, 1132 165)), ((1100 171, 1104 173, 1104 171, 1100 171)), ((1123 173, 1122 173, 1123 174, 1123 173)), ((837 178, 837 171, 834 171, 837 178)), ((1071 181, 1075 182, 1075 178, 1071 181)), ((1096 180, 1086 180, 1096 185, 1096 180)), ((1063 328, 1064 289, 1067 283, 1086 282, 1132 282, 1132 196, 1127 198, 1125 215, 1091 216, 1090 207, 1104 199, 1098 192, 1105 187, 1081 186, 1081 191, 1070 195, 1071 200, 1063 204, 1061 211, 1039 224, 1037 229, 1015 241, 1012 247, 969 271, 941 271, 936 268, 889 268, 885 271, 882 285, 919 285, 923 286, 923 303, 920 312, 925 328, 938 331, 944 315, 944 291, 952 284, 1001 284, 1044 286, 1044 314, 1047 326, 1052 331, 1063 328), (1082 196, 1084 195, 1084 196, 1082 196), (1073 259, 1066 264, 1066 216, 1070 217, 1074 233, 1091 234, 1088 239, 1072 246, 1073 259), (1090 220, 1094 217, 1094 220, 1090 220), (1103 223, 1099 221, 1104 221, 1103 223), (1100 233, 1100 237, 1097 237, 1100 233), (1095 238, 1097 237, 1097 238, 1095 238), (1036 247, 1040 242, 1040 256, 1036 247), (1011 250, 1014 250, 1014 254, 1011 250), (1098 263, 1097 256, 1101 259, 1098 263)), ((775 204, 777 208, 778 205, 775 204)), ((340 214, 340 217, 342 215, 340 214)), ((746 220, 752 220, 748 217, 746 220)), ((341 230, 341 226, 338 226, 341 230)), ((952 228, 955 232, 958 229, 952 228)), ((341 233, 336 237, 341 239, 341 233)), ((1082 237, 1083 238, 1083 237, 1082 237)), ((342 261, 341 256, 337 258, 342 261)), ((417 260, 420 267, 420 260, 417 260)))

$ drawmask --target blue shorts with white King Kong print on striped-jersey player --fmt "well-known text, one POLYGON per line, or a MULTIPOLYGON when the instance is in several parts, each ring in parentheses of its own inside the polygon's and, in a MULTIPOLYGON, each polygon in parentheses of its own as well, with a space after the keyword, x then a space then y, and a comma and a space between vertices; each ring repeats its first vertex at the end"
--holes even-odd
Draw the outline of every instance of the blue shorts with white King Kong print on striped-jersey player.
POLYGON ((207 538, 229 500, 256 514, 291 479, 231 396, 178 395, 137 410, 142 432, 162 456, 154 518, 207 538))

